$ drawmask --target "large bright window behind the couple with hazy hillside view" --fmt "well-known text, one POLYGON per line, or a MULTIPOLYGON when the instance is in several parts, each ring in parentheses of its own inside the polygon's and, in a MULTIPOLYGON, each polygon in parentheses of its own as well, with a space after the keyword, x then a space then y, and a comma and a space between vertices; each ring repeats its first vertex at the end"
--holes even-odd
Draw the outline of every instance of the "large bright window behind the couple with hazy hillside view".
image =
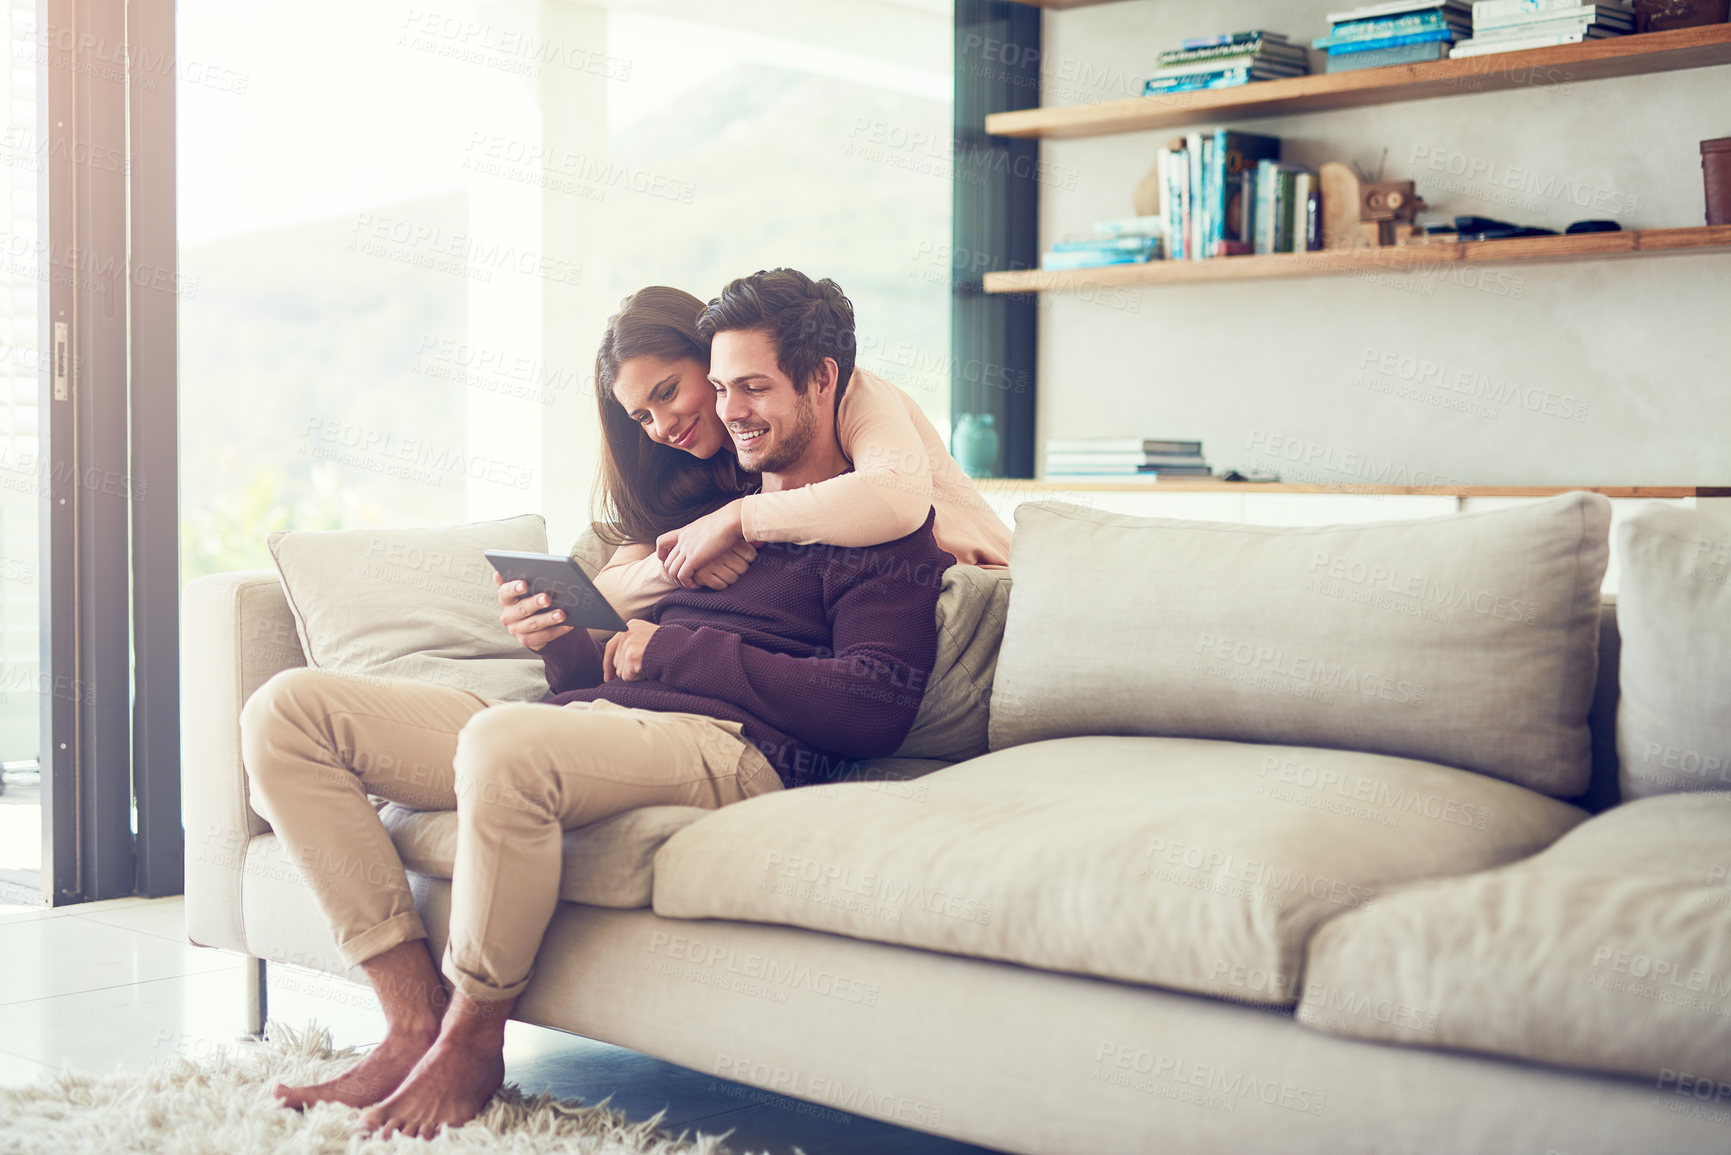
POLYGON ((834 277, 949 426, 949 0, 178 10, 182 580, 277 528, 568 545, 647 284, 834 277))

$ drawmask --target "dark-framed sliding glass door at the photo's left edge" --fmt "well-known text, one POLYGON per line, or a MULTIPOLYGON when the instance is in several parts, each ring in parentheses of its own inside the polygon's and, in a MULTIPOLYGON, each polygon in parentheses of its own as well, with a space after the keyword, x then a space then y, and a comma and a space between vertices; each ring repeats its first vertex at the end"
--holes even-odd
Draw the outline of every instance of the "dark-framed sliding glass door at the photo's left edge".
POLYGON ((173 0, 0 14, 0 909, 177 894, 173 0))

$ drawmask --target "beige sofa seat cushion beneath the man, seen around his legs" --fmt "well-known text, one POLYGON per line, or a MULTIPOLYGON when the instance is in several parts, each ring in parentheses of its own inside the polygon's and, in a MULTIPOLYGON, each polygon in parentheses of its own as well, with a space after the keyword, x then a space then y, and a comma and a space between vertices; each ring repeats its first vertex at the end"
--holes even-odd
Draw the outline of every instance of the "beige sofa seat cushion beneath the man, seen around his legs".
MULTIPOLYGON (((654 852, 673 831, 711 810, 703 807, 642 807, 564 831, 559 899, 630 911, 649 906, 654 852)), ((457 861, 457 812, 379 809, 403 868, 429 878, 450 878, 457 861)))

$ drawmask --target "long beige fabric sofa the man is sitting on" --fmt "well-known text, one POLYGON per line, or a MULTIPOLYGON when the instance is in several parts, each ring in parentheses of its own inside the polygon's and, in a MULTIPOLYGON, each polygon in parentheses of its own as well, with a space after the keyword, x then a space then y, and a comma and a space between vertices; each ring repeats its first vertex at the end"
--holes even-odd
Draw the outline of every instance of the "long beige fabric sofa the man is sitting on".
MULTIPOLYGON (((516 1015, 1026 1155, 1731 1150, 1731 525, 1620 523, 1613 604, 1589 494, 1016 521, 897 757, 568 831, 516 1015)), ((284 558, 185 589, 187 933, 364 982, 248 803, 284 558)), ((454 816, 379 805, 438 951, 454 816)))

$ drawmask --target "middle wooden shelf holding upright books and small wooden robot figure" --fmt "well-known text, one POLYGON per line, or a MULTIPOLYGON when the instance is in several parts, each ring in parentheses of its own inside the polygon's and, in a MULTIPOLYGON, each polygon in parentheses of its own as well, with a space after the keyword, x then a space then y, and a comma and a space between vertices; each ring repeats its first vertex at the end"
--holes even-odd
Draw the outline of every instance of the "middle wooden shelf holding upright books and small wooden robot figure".
POLYGON ((1146 261, 1099 268, 1020 268, 988 272, 987 293, 1063 293, 1085 286, 1141 287, 1205 281, 1274 281, 1279 277, 1350 277, 1411 274, 1447 267, 1554 265, 1560 261, 1676 256, 1731 251, 1731 225, 1643 229, 1639 232, 1577 232, 1556 237, 1511 237, 1464 244, 1390 244, 1326 253, 1217 256, 1205 261, 1146 261))

